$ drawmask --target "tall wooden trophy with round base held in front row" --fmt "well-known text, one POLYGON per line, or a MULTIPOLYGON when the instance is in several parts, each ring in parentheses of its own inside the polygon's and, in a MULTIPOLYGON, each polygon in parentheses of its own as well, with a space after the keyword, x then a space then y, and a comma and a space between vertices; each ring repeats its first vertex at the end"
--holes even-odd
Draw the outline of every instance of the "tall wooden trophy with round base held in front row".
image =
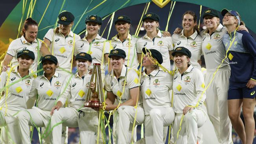
POLYGON ((95 92, 91 94, 91 89, 88 89, 85 98, 85 103, 83 105, 84 107, 102 107, 102 102, 104 102, 100 63, 93 64, 93 72, 91 76, 90 85, 93 81, 95 81, 95 92))

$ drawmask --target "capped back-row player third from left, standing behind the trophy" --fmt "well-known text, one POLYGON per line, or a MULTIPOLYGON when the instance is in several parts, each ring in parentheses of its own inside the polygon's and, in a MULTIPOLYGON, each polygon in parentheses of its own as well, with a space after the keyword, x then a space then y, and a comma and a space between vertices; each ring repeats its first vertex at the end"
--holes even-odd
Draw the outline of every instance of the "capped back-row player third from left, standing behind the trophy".
POLYGON ((105 77, 105 68, 108 63, 109 42, 98 35, 102 25, 101 17, 89 15, 85 19, 87 35, 76 42, 75 54, 85 52, 90 54, 93 62, 89 67, 92 70, 94 63, 100 63, 101 78, 105 77))

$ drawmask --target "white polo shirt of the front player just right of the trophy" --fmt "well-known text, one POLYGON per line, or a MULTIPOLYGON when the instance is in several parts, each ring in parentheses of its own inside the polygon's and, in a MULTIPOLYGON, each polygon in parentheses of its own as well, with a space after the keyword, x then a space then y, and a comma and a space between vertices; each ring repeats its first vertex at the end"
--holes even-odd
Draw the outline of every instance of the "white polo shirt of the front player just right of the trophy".
MULTIPOLYGON (((105 89, 115 94, 117 103, 120 102, 121 95, 121 103, 130 100, 130 89, 135 87, 139 87, 139 76, 133 69, 128 69, 125 65, 122 65, 122 72, 118 79, 115 77, 113 70, 105 76, 105 89), (124 84, 125 78, 126 83, 124 84), (122 91, 123 87, 125 87, 124 92, 122 91)), ((142 106, 141 98, 139 98, 138 106, 142 106)))

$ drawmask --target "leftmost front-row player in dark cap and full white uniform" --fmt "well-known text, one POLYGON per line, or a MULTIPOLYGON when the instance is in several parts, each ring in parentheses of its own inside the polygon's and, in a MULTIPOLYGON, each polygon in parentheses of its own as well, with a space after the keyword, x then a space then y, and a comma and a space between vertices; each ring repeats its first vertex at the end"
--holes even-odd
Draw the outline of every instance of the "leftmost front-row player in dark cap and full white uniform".
POLYGON ((9 88, 4 89, 4 96, 0 100, 0 126, 5 126, 2 128, 1 133, 1 139, 4 144, 9 142, 21 143, 20 133, 15 131, 18 127, 17 116, 13 115, 20 110, 27 109, 26 102, 29 99, 29 93, 34 81, 29 70, 35 59, 34 53, 30 50, 22 50, 17 53, 17 59, 19 65, 7 68, 7 71, 2 72, 0 76, 1 89, 11 85, 9 88), (20 81, 20 79, 22 80, 20 81))

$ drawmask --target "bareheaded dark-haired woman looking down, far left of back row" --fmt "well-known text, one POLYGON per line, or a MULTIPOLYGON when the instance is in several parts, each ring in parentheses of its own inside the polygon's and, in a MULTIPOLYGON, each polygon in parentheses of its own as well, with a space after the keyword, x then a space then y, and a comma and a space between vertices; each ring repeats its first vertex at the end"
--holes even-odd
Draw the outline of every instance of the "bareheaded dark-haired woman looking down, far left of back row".
POLYGON ((35 55, 35 61, 33 61, 32 66, 30 67, 31 72, 37 71, 37 58, 40 59, 38 51, 41 47, 41 42, 37 39, 38 24, 32 18, 27 18, 22 26, 21 37, 15 39, 9 45, 9 48, 6 52, 6 56, 3 61, 3 71, 6 71, 9 67, 9 63, 12 63, 12 66, 19 65, 17 59, 17 52, 22 50, 30 50, 35 55))

